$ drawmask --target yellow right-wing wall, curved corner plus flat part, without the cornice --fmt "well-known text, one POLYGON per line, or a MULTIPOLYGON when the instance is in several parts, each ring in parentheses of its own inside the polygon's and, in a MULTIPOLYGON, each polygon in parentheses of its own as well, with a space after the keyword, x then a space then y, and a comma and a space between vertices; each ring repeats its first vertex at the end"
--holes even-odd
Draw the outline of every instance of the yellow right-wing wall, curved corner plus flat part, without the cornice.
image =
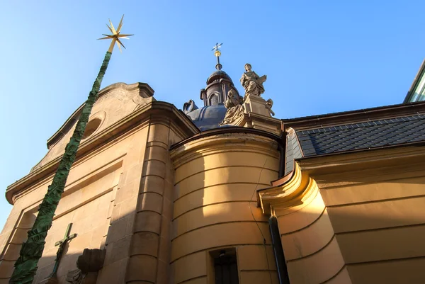
POLYGON ((291 283, 424 283, 424 183, 323 188, 277 210, 291 283))

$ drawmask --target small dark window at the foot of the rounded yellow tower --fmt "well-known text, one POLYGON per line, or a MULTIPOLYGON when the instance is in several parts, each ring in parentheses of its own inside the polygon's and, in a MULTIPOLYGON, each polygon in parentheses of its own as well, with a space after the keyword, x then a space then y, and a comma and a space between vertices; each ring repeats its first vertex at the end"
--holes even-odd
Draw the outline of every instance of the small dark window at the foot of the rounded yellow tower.
POLYGON ((239 284, 235 249, 222 249, 211 252, 214 260, 215 284, 239 284))

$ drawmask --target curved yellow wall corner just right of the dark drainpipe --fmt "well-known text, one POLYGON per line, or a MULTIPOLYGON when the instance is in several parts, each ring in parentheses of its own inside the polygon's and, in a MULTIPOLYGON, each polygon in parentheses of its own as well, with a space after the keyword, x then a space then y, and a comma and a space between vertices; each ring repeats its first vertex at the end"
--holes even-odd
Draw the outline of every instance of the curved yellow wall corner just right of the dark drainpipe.
POLYGON ((302 198, 273 205, 290 283, 351 283, 317 184, 309 179, 303 189, 302 198))

